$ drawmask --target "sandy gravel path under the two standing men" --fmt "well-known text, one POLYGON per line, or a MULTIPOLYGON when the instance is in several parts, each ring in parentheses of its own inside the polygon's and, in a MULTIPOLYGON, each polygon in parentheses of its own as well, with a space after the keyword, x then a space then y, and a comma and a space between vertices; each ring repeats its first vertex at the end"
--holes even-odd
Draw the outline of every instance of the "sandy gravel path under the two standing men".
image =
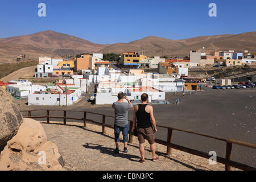
MULTIPOLYGON (((65 169, 68 170, 110 170, 110 171, 201 171, 225 170, 223 164, 210 165, 208 159, 190 155, 172 149, 171 156, 166 155, 166 146, 156 144, 156 155, 159 160, 152 162, 150 146, 145 143, 144 164, 139 163, 139 143, 133 137, 133 143, 127 146, 128 152, 123 153, 123 143, 119 144, 119 154, 114 154, 114 130, 88 124, 86 129, 82 123, 68 122, 67 126, 58 122, 50 124, 41 122, 47 138, 55 143, 63 156, 65 169)), ((122 135, 121 135, 122 141, 122 135)), ((232 170, 237 170, 232 168, 232 170)))

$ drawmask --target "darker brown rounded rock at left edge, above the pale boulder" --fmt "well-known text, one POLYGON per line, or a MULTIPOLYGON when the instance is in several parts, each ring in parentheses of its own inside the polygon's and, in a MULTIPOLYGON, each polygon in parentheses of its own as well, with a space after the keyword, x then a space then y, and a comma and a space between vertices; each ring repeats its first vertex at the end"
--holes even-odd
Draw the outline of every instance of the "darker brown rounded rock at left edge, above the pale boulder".
POLYGON ((22 114, 17 109, 9 92, 0 86, 0 151, 6 142, 16 135, 22 123, 22 114))

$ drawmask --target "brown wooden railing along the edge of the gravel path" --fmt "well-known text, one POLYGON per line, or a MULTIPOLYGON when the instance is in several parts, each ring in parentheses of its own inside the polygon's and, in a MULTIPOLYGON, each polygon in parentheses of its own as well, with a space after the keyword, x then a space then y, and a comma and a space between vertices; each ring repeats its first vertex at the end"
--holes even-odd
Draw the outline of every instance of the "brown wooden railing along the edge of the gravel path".
MULTIPOLYGON (((102 126, 102 133, 103 134, 106 133, 106 127, 114 129, 114 126, 106 124, 106 117, 114 118, 113 115, 94 113, 92 111, 84 111, 84 110, 80 110, 80 111, 79 110, 42 110, 42 109, 36 109, 36 110, 21 110, 21 112, 28 112, 27 118, 46 118, 47 119, 46 120, 47 123, 49 123, 49 119, 50 118, 63 119, 64 125, 66 125, 67 119, 83 121, 84 122, 84 127, 86 127, 86 122, 92 122, 92 123, 94 123, 96 125, 102 126), (31 111, 46 111, 46 115, 31 116, 31 111), (51 116, 49 114, 49 111, 63 111, 63 117, 51 116), (84 117, 83 118, 67 117, 67 111, 68 112, 82 112, 82 113, 84 113, 84 117), (86 114, 87 113, 89 113, 89 114, 96 114, 96 115, 102 115, 102 122, 96 122, 96 121, 93 121, 92 119, 86 118, 86 114)), ((250 148, 254 148, 254 149, 256 149, 256 144, 241 142, 241 141, 233 140, 233 139, 225 139, 225 138, 220 138, 220 137, 214 137, 214 136, 210 136, 210 135, 207 135, 207 134, 201 134, 201 133, 196 133, 196 132, 193 132, 193 131, 177 129, 177 128, 174 128, 174 127, 161 126, 161 125, 156 125, 156 126, 157 127, 162 127, 164 129, 168 130, 167 141, 160 140, 160 139, 155 139, 156 143, 163 144, 164 146, 167 146, 167 155, 168 156, 171 155, 171 149, 175 148, 176 150, 184 151, 184 152, 187 152, 189 154, 193 154, 193 155, 197 155, 197 156, 201 156, 203 158, 209 159, 209 154, 207 154, 206 152, 194 150, 192 148, 188 148, 188 147, 184 147, 184 146, 180 146, 178 144, 172 143, 172 131, 174 131, 174 130, 175 131, 183 131, 185 133, 195 134, 195 135, 199 135, 199 136, 202 136, 202 137, 212 138, 212 139, 221 140, 223 142, 226 142, 226 157, 225 158, 221 158, 220 156, 217 156, 217 160, 216 160, 216 162, 218 162, 218 163, 225 164, 225 170, 226 171, 230 171, 230 167, 235 167, 235 168, 242 169, 242 170, 253 170, 253 171, 256 170, 256 168, 254 168, 254 167, 247 166, 246 164, 234 162, 234 161, 231 160, 233 144, 238 144, 240 146, 250 147, 250 148)), ((132 127, 133 127, 133 121, 129 120, 129 142, 131 142, 131 143, 133 142, 133 134, 131 132, 131 128, 132 127)))

